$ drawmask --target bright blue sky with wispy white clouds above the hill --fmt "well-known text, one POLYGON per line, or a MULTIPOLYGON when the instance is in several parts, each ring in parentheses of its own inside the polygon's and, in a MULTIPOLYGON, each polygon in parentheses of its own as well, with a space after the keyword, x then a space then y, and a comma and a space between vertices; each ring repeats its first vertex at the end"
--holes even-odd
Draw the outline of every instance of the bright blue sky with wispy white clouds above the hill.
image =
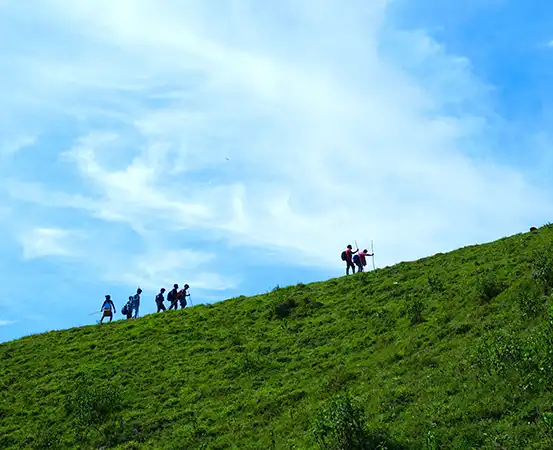
POLYGON ((0 341, 551 221, 553 5, 0 0, 0 341), (549 24, 548 24, 549 23, 549 24))

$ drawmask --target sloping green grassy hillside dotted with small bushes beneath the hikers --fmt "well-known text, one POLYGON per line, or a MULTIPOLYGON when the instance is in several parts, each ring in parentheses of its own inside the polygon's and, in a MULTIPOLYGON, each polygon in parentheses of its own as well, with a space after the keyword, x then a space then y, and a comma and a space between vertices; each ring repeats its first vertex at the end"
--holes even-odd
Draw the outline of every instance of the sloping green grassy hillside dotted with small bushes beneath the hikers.
POLYGON ((552 244, 2 344, 0 448, 553 448, 552 244))

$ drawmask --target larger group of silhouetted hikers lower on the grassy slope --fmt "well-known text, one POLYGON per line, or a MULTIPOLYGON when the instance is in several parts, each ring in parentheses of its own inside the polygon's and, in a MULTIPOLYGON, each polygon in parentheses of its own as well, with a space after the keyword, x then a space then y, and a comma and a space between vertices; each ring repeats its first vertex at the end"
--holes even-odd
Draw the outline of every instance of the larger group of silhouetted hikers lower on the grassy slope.
MULTIPOLYGON (((169 310, 175 309, 175 311, 179 308, 179 305, 181 309, 184 309, 187 305, 186 297, 190 297, 190 294, 188 293, 188 289, 190 286, 185 284, 182 289, 179 290, 179 285, 174 284, 173 289, 169 291, 169 294, 167 294, 167 301, 169 302, 169 310)), ((157 311, 166 311, 167 308, 165 307, 165 294, 166 289, 161 288, 159 291, 159 294, 156 295, 156 306, 157 311)), ((129 300, 123 308, 121 308, 121 313, 125 316, 127 316, 127 319, 136 319, 138 317, 138 311, 140 309, 140 294, 142 294, 142 289, 138 288, 136 290, 136 294, 129 296, 129 300)), ((111 322, 113 319, 113 314, 116 314, 117 311, 115 310, 115 305, 113 303, 113 300, 111 300, 111 295, 107 294, 106 298, 104 300, 104 303, 102 304, 102 308, 100 309, 100 312, 102 312, 102 318, 100 319, 100 323, 103 323, 105 317, 109 317, 109 321, 111 322)))

